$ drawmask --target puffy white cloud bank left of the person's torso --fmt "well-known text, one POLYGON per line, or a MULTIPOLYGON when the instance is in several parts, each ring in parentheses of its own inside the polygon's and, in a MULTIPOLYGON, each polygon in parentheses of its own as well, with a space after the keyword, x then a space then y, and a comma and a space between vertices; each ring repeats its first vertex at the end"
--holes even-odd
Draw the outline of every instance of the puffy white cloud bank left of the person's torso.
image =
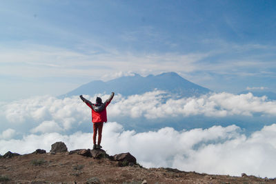
POLYGON ((64 130, 70 130, 74 123, 88 121, 91 116, 89 108, 79 99, 79 96, 73 96, 70 99, 36 96, 14 101, 1 108, 10 123, 55 121, 64 130))

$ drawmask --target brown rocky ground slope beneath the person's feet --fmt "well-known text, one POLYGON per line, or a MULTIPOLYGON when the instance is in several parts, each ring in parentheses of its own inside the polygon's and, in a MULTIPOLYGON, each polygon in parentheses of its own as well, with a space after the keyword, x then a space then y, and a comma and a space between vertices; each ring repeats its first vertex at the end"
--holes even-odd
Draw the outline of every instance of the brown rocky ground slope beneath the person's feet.
POLYGON ((170 168, 146 169, 131 154, 103 150, 32 154, 8 152, 0 158, 0 183, 276 183, 275 179, 199 174, 170 168))

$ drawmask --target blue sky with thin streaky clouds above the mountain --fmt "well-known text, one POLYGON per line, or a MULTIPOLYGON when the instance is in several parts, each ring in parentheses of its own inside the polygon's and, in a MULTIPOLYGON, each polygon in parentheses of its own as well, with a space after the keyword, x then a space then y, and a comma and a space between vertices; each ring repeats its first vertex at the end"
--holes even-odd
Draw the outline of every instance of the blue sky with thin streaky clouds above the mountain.
POLYGON ((0 101, 178 72, 276 92, 275 1, 2 1, 0 101))

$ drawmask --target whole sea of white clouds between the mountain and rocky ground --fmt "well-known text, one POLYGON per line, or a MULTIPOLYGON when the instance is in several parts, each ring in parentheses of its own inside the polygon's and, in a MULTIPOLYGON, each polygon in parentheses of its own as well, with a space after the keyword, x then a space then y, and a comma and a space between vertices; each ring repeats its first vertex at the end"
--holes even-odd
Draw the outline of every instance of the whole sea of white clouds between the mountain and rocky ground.
MULTIPOLYGON (((109 95, 98 96, 107 99, 109 95)), ((96 96, 85 97, 94 102, 96 96)), ((68 150, 92 147, 90 108, 79 96, 66 99, 35 96, 0 103, 0 110, 0 154, 9 150, 26 154, 37 148, 49 151, 50 145, 57 141, 66 143, 68 150)), ((166 92, 153 91, 133 96, 116 95, 108 106, 111 120, 117 116, 159 121, 168 116, 224 117, 256 113, 275 116, 276 101, 250 93, 226 92, 172 99, 166 92)), ((136 132, 125 130, 120 122, 108 122, 103 127, 102 145, 108 154, 130 152, 144 167, 276 177, 276 124, 273 122, 250 135, 245 135, 237 125, 191 130, 163 127, 136 132)))

